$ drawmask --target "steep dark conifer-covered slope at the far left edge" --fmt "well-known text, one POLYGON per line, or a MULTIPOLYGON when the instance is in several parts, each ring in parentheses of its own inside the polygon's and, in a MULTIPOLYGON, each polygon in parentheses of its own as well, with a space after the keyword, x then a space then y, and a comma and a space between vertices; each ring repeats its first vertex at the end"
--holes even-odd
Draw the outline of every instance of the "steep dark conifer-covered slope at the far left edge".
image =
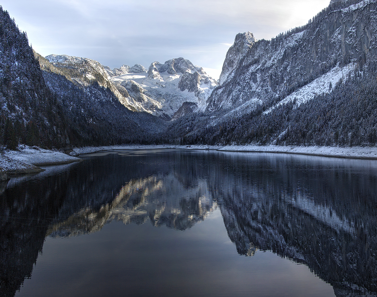
POLYGON ((69 144, 57 98, 46 86, 25 32, 0 7, 0 145, 69 144))

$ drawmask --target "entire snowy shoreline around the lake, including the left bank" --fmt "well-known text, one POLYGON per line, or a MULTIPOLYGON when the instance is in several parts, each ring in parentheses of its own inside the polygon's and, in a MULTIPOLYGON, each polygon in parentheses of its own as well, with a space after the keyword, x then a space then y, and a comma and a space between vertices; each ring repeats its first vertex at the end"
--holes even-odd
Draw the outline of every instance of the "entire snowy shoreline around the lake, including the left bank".
POLYGON ((73 148, 67 155, 38 147, 20 145, 19 151, 5 150, 0 153, 0 181, 11 176, 39 173, 38 166, 67 164, 82 161, 76 156, 115 150, 218 150, 221 152, 286 153, 296 155, 322 156, 332 158, 377 159, 377 147, 322 147, 322 146, 279 146, 279 145, 111 145, 101 147, 73 148))

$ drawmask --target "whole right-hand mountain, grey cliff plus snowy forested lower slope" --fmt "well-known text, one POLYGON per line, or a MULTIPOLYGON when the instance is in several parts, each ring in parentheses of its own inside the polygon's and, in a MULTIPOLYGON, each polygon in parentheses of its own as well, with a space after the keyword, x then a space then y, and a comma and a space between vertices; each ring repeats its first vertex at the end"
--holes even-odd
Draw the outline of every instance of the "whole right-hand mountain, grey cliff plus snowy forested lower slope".
POLYGON ((271 40, 239 33, 207 117, 182 118, 169 132, 184 144, 375 145, 376 8, 332 1, 271 40))

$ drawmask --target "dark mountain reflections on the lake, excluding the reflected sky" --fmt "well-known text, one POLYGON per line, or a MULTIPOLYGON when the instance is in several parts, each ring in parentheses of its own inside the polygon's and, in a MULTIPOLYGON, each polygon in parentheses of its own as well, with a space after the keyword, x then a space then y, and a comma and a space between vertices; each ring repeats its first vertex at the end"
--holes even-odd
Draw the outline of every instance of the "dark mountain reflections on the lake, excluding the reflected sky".
POLYGON ((240 255, 272 250, 337 296, 377 295, 377 161, 160 150, 57 168, 0 186, 2 296, 31 277, 45 236, 112 220, 185 230, 215 208, 240 255))

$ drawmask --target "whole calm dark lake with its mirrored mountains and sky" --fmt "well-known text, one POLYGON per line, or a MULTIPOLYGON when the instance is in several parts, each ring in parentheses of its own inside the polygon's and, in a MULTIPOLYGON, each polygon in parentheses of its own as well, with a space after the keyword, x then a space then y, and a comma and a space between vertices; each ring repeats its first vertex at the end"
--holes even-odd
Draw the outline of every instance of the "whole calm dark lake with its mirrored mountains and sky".
POLYGON ((0 296, 377 295, 377 161, 82 158, 0 184, 0 296))

